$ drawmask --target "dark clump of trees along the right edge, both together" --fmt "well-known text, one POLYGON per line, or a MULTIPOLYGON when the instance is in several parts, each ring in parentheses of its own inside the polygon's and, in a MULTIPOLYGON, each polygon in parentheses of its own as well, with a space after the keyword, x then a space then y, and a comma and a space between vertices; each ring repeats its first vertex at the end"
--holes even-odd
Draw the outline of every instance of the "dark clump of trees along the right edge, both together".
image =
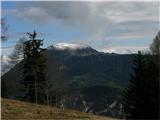
POLYGON ((127 119, 159 118, 160 32, 148 53, 138 52, 133 61, 133 73, 125 89, 123 106, 127 119))

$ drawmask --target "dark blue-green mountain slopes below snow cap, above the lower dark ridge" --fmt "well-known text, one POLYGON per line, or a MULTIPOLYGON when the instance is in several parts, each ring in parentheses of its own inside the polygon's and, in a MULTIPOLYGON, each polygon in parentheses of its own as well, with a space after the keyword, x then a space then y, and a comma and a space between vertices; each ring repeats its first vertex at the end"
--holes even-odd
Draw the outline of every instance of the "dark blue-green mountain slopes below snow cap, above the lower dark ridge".
MULTIPOLYGON (((105 54, 92 48, 68 51, 51 46, 46 54, 46 77, 52 83, 54 91, 97 85, 123 87, 128 82, 133 60, 133 55, 105 54)), ((19 83, 23 79, 22 68, 21 64, 17 64, 2 76, 11 98, 23 94, 19 93, 19 83)))

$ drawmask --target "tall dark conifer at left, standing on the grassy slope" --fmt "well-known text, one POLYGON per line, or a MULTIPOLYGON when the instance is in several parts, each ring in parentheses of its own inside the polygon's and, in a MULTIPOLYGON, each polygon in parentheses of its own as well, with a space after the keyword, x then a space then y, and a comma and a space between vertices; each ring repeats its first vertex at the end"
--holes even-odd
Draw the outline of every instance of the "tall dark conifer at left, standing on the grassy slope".
POLYGON ((37 33, 28 33, 30 40, 24 42, 24 59, 23 59, 23 77, 24 86, 26 89, 25 99, 36 102, 45 103, 46 81, 45 81, 45 66, 46 59, 42 54, 43 40, 36 39, 37 33))

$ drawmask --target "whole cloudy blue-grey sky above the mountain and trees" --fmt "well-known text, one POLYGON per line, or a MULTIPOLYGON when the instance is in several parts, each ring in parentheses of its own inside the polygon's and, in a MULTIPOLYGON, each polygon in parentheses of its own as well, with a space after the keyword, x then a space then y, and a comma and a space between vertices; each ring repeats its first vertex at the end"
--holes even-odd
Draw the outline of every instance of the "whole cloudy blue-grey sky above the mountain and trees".
POLYGON ((9 55, 16 42, 33 30, 44 39, 43 47, 76 43, 120 54, 146 50, 159 30, 159 5, 158 1, 2 1, 1 17, 9 26, 2 55, 9 55))

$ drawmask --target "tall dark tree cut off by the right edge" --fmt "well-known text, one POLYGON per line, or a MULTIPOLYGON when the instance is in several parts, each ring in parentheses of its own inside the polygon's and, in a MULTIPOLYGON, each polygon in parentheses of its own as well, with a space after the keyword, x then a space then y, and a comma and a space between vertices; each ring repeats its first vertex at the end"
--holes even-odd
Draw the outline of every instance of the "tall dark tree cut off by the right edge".
POLYGON ((159 114, 159 86, 160 86, 160 31, 153 39, 150 45, 150 53, 147 57, 147 71, 146 71, 146 82, 148 86, 148 104, 147 115, 150 118, 158 119, 159 114))

